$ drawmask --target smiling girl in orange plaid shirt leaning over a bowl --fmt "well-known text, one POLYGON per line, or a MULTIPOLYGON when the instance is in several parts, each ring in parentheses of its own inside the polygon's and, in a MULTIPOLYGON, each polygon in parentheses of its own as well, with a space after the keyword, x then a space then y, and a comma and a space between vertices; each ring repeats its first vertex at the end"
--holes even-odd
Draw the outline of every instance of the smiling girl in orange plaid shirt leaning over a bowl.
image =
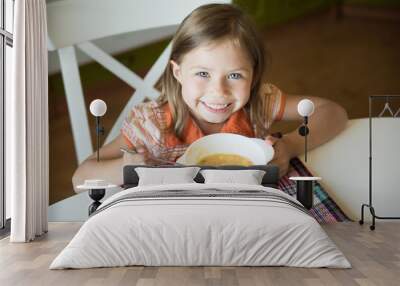
MULTIPOLYGON (((263 39, 240 9, 228 4, 195 9, 173 38, 158 84, 161 96, 133 107, 120 135, 101 148, 101 161, 93 154, 78 167, 74 187, 93 176, 122 184, 125 164, 175 161, 192 142, 218 132, 265 139, 275 149, 271 163, 285 175, 289 160, 302 153, 304 138, 294 130, 278 139, 268 130, 274 121, 301 120, 297 104, 303 97, 267 83, 265 70, 263 39)), ((315 105, 309 120, 312 149, 345 128, 347 113, 332 101, 307 98, 315 105)))

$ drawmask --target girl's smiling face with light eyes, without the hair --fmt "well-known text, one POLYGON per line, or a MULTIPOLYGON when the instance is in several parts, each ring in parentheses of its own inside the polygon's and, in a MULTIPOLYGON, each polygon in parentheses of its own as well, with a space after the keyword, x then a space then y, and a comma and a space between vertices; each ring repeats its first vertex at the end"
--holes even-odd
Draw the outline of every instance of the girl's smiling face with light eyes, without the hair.
POLYGON ((250 98, 253 67, 245 51, 233 41, 201 45, 171 61, 182 97, 198 121, 225 122, 250 98))

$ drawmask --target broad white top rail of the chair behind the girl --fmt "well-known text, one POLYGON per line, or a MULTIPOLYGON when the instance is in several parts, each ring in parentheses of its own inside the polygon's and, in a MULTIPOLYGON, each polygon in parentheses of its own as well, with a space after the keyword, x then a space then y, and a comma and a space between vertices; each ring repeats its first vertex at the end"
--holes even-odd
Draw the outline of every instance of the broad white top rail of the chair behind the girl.
POLYGON ((58 0, 47 4, 50 50, 118 34, 178 26, 193 9, 227 0, 58 0))

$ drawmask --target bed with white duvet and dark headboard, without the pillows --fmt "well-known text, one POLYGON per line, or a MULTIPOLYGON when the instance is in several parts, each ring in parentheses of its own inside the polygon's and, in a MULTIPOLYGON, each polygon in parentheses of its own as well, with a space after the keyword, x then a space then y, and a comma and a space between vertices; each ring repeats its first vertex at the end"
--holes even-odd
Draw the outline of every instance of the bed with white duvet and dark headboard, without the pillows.
MULTIPOLYGON (((204 169, 215 167, 204 167, 204 169)), ((241 169, 241 167, 224 167, 241 169)), ((350 268, 319 223, 276 188, 274 166, 261 184, 202 182, 138 185, 106 199, 50 269, 144 266, 350 268)), ((203 169, 203 170, 204 170, 203 169)))

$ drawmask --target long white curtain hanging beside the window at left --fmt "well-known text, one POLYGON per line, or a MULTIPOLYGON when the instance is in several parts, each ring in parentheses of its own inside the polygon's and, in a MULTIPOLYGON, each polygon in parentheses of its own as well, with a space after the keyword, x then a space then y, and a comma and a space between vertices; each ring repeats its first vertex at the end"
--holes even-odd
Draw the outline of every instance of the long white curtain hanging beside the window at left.
POLYGON ((13 81, 6 98, 6 187, 12 242, 47 232, 49 190, 47 22, 45 0, 14 7, 13 81))

